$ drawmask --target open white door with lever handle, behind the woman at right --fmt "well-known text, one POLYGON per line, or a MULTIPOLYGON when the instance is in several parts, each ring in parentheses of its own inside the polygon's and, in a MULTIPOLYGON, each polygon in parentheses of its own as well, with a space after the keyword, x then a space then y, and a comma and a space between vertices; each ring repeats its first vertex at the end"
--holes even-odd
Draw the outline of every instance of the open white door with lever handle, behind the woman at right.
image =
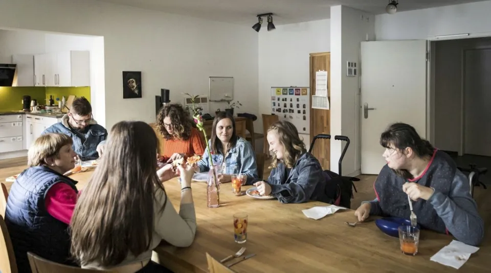
POLYGON ((391 123, 426 138, 427 41, 362 42, 360 72, 361 172, 376 175, 386 164, 380 135, 391 123))

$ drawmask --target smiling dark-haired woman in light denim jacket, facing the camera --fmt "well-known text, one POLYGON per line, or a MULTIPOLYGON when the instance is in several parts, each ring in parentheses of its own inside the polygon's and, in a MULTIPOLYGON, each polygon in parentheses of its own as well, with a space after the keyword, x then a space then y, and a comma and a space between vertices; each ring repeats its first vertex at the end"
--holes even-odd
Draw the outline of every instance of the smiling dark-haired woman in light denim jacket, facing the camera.
MULTIPOLYGON (((213 120, 211 139, 209 140, 213 165, 218 166, 220 183, 232 181, 231 175, 239 172, 248 177, 248 182, 258 178, 256 155, 249 141, 238 137, 235 120, 226 112, 220 112, 213 120)), ((208 147, 203 158, 198 161, 200 172, 210 170, 210 151, 208 147)))

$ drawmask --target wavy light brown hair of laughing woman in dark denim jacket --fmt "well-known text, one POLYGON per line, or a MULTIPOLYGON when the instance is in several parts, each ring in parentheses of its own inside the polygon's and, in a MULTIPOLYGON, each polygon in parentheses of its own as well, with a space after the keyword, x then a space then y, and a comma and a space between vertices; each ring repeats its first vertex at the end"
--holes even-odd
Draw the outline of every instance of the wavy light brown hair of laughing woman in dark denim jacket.
POLYGON ((287 168, 293 168, 301 155, 305 154, 305 144, 298 136, 298 130, 292 122, 280 120, 273 123, 267 132, 276 131, 279 142, 285 147, 283 159, 280 161, 273 155, 270 168, 276 168, 283 162, 287 168))

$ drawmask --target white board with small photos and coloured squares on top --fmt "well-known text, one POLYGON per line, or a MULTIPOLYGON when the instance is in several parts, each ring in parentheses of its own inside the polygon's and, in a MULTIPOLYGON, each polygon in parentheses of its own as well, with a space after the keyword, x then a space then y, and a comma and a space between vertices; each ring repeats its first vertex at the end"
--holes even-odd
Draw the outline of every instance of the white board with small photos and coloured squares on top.
POLYGON ((272 87, 271 113, 279 120, 292 122, 299 134, 310 133, 310 89, 308 87, 272 87))

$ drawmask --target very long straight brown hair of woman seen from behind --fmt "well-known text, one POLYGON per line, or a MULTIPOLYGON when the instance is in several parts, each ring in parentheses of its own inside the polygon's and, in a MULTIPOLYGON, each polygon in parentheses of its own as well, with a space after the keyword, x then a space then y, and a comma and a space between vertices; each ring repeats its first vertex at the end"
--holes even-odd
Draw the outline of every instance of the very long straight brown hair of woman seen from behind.
POLYGON ((158 142, 142 121, 121 121, 111 129, 106 152, 72 216, 72 254, 78 261, 114 266, 128 253, 148 250, 154 192, 164 190, 155 172, 158 142))

